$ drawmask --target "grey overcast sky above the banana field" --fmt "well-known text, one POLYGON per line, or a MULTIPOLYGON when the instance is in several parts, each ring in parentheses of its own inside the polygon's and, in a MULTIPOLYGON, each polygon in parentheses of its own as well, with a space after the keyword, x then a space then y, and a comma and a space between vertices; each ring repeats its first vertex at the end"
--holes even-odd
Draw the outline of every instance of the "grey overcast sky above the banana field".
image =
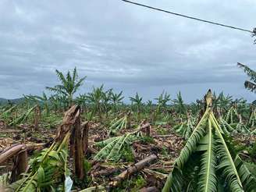
MULTIPOLYGON (((135 1, 135 0, 134 0, 135 1)), ((172 12, 252 30, 255 0, 136 0, 172 12)), ((248 101, 256 69, 249 33, 198 23, 119 0, 0 0, 0 98, 41 94, 57 84, 55 69, 87 76, 80 93, 105 84, 144 100, 163 90, 194 101, 212 88, 248 101)))

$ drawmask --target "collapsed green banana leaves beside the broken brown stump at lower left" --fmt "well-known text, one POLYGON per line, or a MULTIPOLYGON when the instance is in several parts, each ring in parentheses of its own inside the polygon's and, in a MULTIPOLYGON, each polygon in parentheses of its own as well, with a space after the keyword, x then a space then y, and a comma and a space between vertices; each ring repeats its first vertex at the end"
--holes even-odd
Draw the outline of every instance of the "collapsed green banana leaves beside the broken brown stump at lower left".
POLYGON ((9 189, 16 192, 71 191, 73 181, 67 159, 69 134, 62 142, 53 143, 32 159, 23 179, 12 183, 9 189))

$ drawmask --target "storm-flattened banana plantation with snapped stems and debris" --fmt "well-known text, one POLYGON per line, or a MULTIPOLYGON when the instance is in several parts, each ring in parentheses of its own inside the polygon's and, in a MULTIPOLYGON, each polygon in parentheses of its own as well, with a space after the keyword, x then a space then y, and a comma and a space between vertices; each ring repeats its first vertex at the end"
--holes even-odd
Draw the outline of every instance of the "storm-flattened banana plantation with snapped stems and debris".
MULTIPOLYGON (((255 91, 255 72, 238 66, 255 91)), ((256 191, 256 101, 78 94, 85 76, 56 74, 41 95, 0 107, 0 191, 256 191)))

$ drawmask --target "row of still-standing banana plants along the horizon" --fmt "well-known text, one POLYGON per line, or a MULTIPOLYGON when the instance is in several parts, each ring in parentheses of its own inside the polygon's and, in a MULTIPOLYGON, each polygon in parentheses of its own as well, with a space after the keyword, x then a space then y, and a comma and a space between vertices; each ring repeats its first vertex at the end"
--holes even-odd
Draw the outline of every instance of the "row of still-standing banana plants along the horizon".
MULTIPOLYGON (((241 63, 237 64, 239 67, 244 69, 250 80, 246 80, 244 86, 252 92, 256 91, 256 73, 253 69, 245 66, 241 63)), ((20 105, 31 106, 38 105, 44 108, 44 113, 49 114, 50 110, 57 112, 64 112, 70 106, 76 104, 80 105, 83 111, 90 114, 90 117, 98 116, 99 119, 108 116, 110 112, 119 112, 120 109, 128 112, 135 112, 140 118, 140 113, 149 112, 151 113, 151 120, 161 116, 162 113, 173 113, 175 112, 177 116, 182 117, 189 110, 190 112, 196 112, 198 108, 203 105, 202 100, 197 100, 195 102, 187 105, 184 103, 181 93, 176 95, 175 99, 170 98, 170 94, 163 91, 158 98, 155 98, 155 102, 148 100, 143 102, 143 98, 136 93, 134 97, 130 97, 130 105, 126 105, 123 102, 124 96, 123 91, 116 93, 113 89, 105 90, 104 85, 100 87, 93 87, 93 90, 87 94, 79 94, 78 97, 74 98, 74 94, 83 85, 86 76, 82 78, 78 77, 76 68, 72 72, 66 73, 64 75, 59 70, 56 70, 56 74, 59 77, 60 84, 54 87, 46 87, 48 91, 51 91, 51 96, 48 96, 43 92, 41 96, 39 95, 24 95, 23 102, 20 105)), ((229 95, 224 95, 223 92, 219 95, 213 94, 215 98, 213 105, 216 108, 221 108, 221 112, 225 112, 230 105, 239 106, 239 108, 248 108, 249 104, 243 98, 235 99, 229 95), (241 107, 242 106, 242 107, 241 107), (224 110, 224 111, 223 111, 224 110)), ((256 101, 253 101, 253 105, 256 105, 256 101)), ((9 107, 12 107, 11 102, 9 102, 9 107)))

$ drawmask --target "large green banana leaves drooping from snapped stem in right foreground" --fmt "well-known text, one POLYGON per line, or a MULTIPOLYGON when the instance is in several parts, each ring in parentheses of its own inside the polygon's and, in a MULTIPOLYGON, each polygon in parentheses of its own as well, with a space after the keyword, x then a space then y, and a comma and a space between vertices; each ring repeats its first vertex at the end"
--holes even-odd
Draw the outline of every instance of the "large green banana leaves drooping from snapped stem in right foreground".
POLYGON ((256 179, 238 155, 229 151, 211 108, 187 140, 163 192, 255 191, 256 179))

